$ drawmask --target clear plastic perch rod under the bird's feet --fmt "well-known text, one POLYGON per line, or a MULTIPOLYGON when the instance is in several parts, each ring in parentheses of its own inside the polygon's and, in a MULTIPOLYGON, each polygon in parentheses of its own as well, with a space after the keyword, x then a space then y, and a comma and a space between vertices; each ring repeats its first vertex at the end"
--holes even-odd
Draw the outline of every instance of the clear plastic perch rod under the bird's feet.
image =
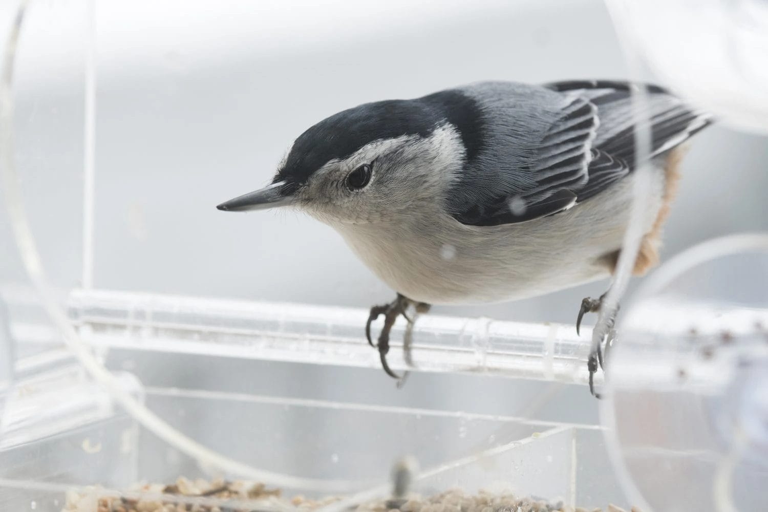
MULTIPOLYGON (((71 293, 68 306, 80 335, 94 347, 381 365, 378 352, 366 343, 368 312, 363 309, 84 289, 71 293)), ((580 339, 574 325, 422 315, 412 332, 414 365, 409 366, 399 342, 404 327, 400 322, 392 331, 392 368, 588 381, 584 340, 590 339, 589 329, 580 339)))

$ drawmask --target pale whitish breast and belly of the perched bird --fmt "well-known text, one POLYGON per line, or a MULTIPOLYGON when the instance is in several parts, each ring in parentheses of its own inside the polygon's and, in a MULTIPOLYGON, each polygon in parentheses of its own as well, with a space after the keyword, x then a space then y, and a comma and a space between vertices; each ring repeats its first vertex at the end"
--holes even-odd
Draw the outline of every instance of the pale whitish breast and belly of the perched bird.
MULTIPOLYGON (((621 247, 634 175, 567 212, 527 223, 465 226, 439 211, 402 223, 333 225, 369 268, 410 299, 429 304, 501 302, 543 295, 608 275, 601 257, 621 247)), ((654 172, 660 208, 664 174, 654 172)))

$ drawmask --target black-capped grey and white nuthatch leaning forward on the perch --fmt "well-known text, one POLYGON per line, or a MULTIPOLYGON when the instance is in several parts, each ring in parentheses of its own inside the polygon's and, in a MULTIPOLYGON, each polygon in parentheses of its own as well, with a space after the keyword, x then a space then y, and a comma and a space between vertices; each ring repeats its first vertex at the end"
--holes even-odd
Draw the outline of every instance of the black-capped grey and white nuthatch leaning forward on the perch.
MULTIPOLYGON (((711 122, 655 84, 475 82, 326 117, 293 141, 270 184, 217 208, 293 206, 340 233, 396 290, 370 309, 365 332, 399 378, 386 361, 399 315, 411 327, 431 305, 506 302, 610 277, 642 164, 652 191, 634 273, 656 265, 687 140, 711 122), (639 119, 650 129, 646 162, 636 156, 639 119)), ((581 302, 577 332, 604 295, 581 302)), ((600 345, 588 359, 595 396, 598 360, 600 345)))

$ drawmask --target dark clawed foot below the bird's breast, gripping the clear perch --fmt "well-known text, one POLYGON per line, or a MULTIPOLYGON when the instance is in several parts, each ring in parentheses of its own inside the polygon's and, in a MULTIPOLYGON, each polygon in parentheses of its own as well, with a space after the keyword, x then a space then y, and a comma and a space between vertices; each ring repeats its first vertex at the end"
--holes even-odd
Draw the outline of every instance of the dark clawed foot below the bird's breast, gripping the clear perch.
POLYGON ((366 322, 366 338, 368 339, 368 343, 372 347, 379 349, 379 357, 381 358, 384 372, 386 372, 386 374, 390 377, 398 379, 401 383, 406 377, 407 372, 401 377, 395 372, 392 372, 392 369, 389 368, 389 364, 386 362, 386 355, 387 352, 389 352, 389 332, 392 331, 392 326, 395 325, 397 317, 402 315, 403 318, 405 318, 408 322, 406 332, 405 335, 403 335, 402 340, 403 358, 406 360, 406 363, 409 366, 413 366, 413 361, 411 358, 413 322, 415 322, 416 315, 428 311, 429 304, 426 304, 425 302, 415 302, 408 297, 402 296, 398 293, 396 299, 392 302, 389 302, 389 304, 385 304, 383 306, 373 306, 368 316, 368 322, 366 322), (408 315, 409 306, 413 306, 415 310, 415 314, 412 317, 408 315), (379 333, 379 339, 376 340, 376 345, 374 345, 371 339, 371 323, 378 319, 380 315, 384 315, 384 326, 382 327, 382 332, 379 333))

